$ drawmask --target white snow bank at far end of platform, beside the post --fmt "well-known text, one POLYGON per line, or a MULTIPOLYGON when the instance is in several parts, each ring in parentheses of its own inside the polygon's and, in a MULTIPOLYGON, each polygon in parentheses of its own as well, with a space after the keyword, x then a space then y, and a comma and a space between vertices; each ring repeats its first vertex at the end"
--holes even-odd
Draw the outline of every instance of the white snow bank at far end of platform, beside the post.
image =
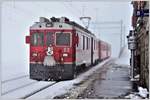
POLYGON ((127 45, 122 48, 122 53, 115 63, 120 65, 130 65, 130 50, 127 45))

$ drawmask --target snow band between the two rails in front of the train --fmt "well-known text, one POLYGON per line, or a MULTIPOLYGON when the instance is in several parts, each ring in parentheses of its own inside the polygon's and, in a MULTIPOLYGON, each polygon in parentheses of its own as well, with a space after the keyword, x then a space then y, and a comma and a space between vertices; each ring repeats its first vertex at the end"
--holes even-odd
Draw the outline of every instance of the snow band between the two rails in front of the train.
POLYGON ((18 89, 16 91, 13 91, 11 93, 8 93, 4 96, 2 96, 2 99, 20 99, 20 98, 24 98, 26 96, 29 96, 30 94, 32 93, 35 93, 35 92, 38 92, 40 91, 41 89, 43 88, 46 88, 52 84, 54 84, 55 82, 37 82, 37 83, 34 83, 32 85, 29 85, 29 86, 26 86, 26 87, 23 87, 21 89, 18 89))

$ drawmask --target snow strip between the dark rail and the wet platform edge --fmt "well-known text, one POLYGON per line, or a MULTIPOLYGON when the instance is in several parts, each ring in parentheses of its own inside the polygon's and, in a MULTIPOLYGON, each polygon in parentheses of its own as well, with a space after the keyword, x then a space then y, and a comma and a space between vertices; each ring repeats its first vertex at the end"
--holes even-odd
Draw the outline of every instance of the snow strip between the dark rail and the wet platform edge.
POLYGON ((28 99, 35 99, 35 98, 38 98, 38 99, 50 99, 51 98, 52 99, 55 96, 65 94, 65 93, 69 92, 69 90, 71 88, 74 87, 74 84, 78 84, 81 81, 86 80, 88 78, 88 76, 93 74, 97 69, 102 67, 106 62, 108 62, 110 60, 111 60, 111 58, 101 62, 100 64, 91 68, 87 72, 82 73, 74 80, 58 82, 58 83, 54 84, 53 86, 50 86, 49 88, 32 95, 28 99))

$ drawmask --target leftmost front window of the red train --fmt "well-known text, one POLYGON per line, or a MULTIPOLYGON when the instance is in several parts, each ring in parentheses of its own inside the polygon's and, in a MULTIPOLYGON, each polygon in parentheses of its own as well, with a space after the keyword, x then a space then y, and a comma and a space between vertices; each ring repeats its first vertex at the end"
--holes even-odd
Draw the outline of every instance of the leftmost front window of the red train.
POLYGON ((43 46, 44 45, 44 33, 33 33, 31 35, 32 46, 43 46))

